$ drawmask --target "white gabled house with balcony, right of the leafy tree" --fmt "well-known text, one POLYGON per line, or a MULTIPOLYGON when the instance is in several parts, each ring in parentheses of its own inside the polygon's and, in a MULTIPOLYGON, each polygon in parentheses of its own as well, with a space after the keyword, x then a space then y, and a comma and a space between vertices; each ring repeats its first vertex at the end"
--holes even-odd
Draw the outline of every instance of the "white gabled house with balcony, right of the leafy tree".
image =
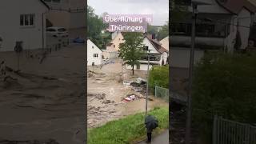
MULTIPOLYGON (((150 51, 150 69, 152 66, 164 66, 168 63, 168 50, 162 47, 160 42, 145 36, 142 44, 150 51)), ((147 70, 147 66, 148 57, 145 56, 139 60, 137 66, 134 66, 134 70, 147 70)), ((132 69, 132 67, 126 65, 126 69, 132 69)))

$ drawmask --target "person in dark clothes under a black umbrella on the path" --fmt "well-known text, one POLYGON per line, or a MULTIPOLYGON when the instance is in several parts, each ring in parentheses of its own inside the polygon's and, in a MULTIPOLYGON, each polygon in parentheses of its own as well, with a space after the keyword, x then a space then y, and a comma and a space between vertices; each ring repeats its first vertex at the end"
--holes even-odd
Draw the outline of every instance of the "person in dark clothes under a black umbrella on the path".
POLYGON ((147 133, 147 143, 151 142, 152 131, 158 127, 158 119, 152 115, 147 115, 145 118, 146 133, 147 133))

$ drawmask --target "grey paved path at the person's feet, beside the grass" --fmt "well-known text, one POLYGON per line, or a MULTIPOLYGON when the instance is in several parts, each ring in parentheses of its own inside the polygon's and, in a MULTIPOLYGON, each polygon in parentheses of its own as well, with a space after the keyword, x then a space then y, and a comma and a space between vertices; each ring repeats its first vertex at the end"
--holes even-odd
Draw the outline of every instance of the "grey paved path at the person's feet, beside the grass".
MULTIPOLYGON (((138 144, 146 144, 146 140, 138 144)), ((151 144, 169 144, 169 130, 164 131, 162 134, 153 136, 151 144)))

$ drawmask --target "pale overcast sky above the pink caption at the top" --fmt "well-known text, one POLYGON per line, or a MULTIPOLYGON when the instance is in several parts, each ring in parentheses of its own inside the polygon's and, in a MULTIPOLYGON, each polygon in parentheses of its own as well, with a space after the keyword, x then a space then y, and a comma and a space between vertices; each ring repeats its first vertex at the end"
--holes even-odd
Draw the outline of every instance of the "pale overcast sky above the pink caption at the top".
POLYGON ((169 19, 169 0, 87 0, 95 14, 153 14, 154 26, 162 26, 169 19))

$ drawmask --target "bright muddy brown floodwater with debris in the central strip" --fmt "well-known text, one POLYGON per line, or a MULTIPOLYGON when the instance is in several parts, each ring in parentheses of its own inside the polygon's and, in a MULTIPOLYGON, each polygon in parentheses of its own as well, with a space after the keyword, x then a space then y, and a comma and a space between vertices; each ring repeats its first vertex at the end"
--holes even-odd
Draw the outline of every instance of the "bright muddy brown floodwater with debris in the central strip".
MULTIPOLYGON (((146 72, 135 71, 131 75, 131 70, 122 68, 119 59, 112 59, 114 63, 102 66, 88 67, 87 78, 87 122, 88 127, 102 126, 106 122, 123 118, 126 115, 136 114, 145 111, 145 94, 135 92, 132 86, 125 86, 125 80, 135 80, 136 78, 146 78, 146 72), (123 101, 127 95, 136 95, 134 101, 123 101)), ((149 110, 156 106, 168 106, 162 99, 154 98, 150 95, 149 110)))

